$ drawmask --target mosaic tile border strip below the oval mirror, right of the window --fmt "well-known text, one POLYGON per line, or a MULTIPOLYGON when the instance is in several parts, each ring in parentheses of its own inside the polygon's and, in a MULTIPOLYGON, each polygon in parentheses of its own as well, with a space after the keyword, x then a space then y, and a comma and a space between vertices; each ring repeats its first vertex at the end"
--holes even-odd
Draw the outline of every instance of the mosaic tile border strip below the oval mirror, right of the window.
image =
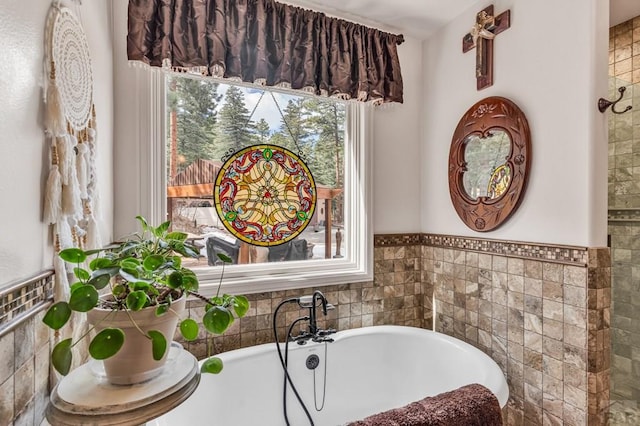
POLYGON ((580 266, 587 265, 589 257, 586 247, 439 234, 378 234, 374 235, 373 244, 374 247, 425 245, 580 266))

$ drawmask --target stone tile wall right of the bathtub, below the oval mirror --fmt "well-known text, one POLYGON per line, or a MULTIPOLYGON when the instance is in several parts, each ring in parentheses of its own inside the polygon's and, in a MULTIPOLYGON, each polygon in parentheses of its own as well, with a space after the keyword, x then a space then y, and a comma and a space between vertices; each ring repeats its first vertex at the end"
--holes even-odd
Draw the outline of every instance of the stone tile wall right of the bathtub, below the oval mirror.
POLYGON ((510 390, 506 423, 605 424, 608 250, 571 248, 584 252, 582 262, 540 258, 544 250, 535 247, 523 258, 455 246, 422 247, 423 288, 435 299, 436 330, 502 367, 510 390))

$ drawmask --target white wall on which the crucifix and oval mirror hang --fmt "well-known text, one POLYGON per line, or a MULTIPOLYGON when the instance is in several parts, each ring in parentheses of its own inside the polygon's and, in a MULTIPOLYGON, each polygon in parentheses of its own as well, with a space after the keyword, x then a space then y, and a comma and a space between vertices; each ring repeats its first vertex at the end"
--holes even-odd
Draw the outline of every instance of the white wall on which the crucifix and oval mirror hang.
POLYGON ((496 0, 467 10, 424 43, 423 232, 585 246, 606 245, 608 1, 496 0), (462 37, 493 3, 511 9, 494 42, 494 85, 476 91, 475 51, 462 37), (449 196, 449 147, 458 120, 478 100, 504 96, 524 111, 533 162, 520 208, 500 228, 478 233, 449 196))

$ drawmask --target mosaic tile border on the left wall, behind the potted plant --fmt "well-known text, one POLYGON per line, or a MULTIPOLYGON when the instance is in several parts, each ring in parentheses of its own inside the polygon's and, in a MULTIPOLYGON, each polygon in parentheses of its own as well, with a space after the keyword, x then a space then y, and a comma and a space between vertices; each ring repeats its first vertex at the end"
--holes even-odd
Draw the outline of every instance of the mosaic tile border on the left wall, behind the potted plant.
POLYGON ((53 270, 46 270, 0 291, 0 337, 48 304, 53 298, 53 277, 53 270))

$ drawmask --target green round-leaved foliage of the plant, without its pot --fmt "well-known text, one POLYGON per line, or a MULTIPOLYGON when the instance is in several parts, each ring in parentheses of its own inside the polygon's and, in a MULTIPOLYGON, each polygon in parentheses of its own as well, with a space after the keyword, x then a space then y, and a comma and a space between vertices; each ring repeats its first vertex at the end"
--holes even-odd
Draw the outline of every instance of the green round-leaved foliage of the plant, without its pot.
MULTIPOLYGON (((43 322, 54 330, 67 324, 73 313, 89 312, 93 309, 107 309, 111 312, 127 311, 138 331, 149 339, 153 359, 165 356, 172 336, 164 336, 157 330, 143 331, 135 324, 134 313, 144 309, 154 309, 155 315, 178 315, 172 304, 188 295, 206 302, 202 325, 212 334, 222 334, 234 321, 249 309, 249 301, 244 296, 220 295, 224 265, 231 259, 218 254, 222 262, 220 282, 215 297, 206 298, 199 294, 196 274, 182 265, 184 257, 197 258, 196 248, 187 242, 187 234, 170 231, 170 222, 154 227, 137 216, 142 226, 141 233, 135 233, 125 241, 96 250, 69 248, 59 256, 67 263, 75 265, 73 274, 77 281, 70 286, 68 301, 58 301, 46 312, 43 322), (88 262, 88 266, 86 265, 88 262)), ((71 338, 57 343, 51 354, 51 361, 60 374, 69 373, 72 364, 72 347, 94 329, 101 328, 89 344, 89 354, 97 360, 105 360, 116 355, 125 343, 125 333, 118 327, 108 325, 109 314, 102 320, 105 324, 94 324, 75 342, 71 338)), ((195 340, 199 324, 192 318, 180 319, 179 330, 187 341, 195 340)), ((222 361, 217 357, 208 358, 201 366, 205 373, 218 373, 222 361)))

